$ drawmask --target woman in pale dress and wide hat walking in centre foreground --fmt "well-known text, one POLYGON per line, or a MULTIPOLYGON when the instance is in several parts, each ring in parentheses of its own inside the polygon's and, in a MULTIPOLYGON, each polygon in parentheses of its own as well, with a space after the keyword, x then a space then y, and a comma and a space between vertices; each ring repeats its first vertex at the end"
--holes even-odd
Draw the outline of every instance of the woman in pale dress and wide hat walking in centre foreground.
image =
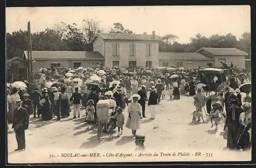
POLYGON ((135 138, 136 130, 140 128, 142 107, 137 102, 140 99, 140 95, 134 94, 131 99, 133 102, 130 103, 127 108, 129 116, 126 122, 126 127, 132 129, 133 137, 135 138))

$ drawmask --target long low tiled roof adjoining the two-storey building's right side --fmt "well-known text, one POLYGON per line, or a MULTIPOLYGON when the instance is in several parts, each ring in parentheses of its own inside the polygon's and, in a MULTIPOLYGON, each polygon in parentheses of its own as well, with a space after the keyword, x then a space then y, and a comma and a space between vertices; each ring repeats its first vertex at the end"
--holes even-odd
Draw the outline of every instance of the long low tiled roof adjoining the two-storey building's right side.
POLYGON ((159 52, 159 60, 214 60, 196 52, 159 52))

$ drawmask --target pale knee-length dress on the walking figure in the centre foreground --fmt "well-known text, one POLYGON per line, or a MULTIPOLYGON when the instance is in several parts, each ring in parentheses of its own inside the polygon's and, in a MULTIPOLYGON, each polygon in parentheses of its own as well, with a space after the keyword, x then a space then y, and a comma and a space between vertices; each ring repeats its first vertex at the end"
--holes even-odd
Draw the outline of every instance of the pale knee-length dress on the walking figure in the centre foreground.
POLYGON ((132 130, 137 130, 140 128, 140 114, 142 113, 142 107, 137 102, 132 102, 128 105, 127 112, 131 116, 131 124, 127 127, 132 130))

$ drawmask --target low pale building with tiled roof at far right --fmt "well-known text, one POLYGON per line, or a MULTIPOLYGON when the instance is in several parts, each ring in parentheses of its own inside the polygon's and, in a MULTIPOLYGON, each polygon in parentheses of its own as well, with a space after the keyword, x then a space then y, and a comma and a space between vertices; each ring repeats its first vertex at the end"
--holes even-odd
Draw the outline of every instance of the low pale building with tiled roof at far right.
POLYGON ((202 47, 197 53, 201 53, 205 57, 213 58, 214 67, 221 67, 221 61, 230 65, 231 62, 233 66, 237 68, 245 69, 245 57, 248 53, 241 51, 237 48, 207 48, 202 47))

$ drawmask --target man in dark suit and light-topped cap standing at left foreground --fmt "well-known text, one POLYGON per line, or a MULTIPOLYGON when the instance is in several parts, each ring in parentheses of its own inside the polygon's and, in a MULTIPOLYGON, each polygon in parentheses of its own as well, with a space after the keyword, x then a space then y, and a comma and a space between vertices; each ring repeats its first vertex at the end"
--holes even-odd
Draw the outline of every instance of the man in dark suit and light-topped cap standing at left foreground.
POLYGON ((25 129, 29 126, 29 115, 26 108, 22 107, 22 100, 16 100, 17 108, 13 112, 13 124, 18 148, 15 151, 24 150, 25 143, 25 129))

